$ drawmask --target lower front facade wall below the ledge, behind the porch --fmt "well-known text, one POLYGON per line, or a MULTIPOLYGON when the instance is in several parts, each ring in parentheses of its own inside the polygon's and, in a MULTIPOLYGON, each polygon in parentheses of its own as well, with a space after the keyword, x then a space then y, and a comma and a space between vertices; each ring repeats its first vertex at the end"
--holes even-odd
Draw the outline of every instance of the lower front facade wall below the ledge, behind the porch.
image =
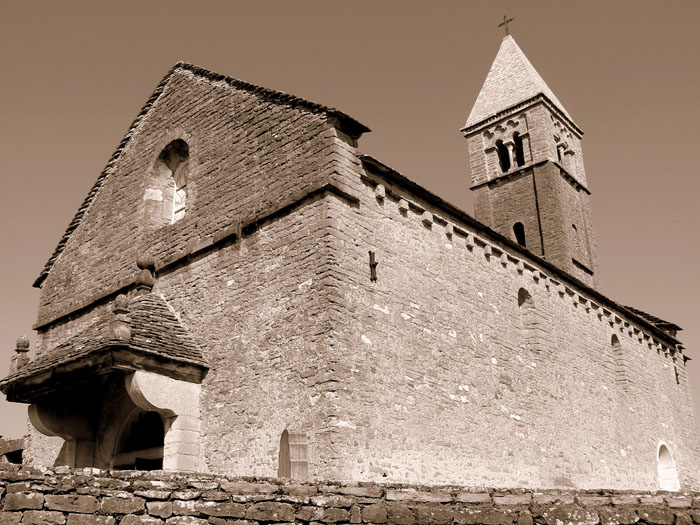
MULTIPOLYGON (((153 293, 173 307, 210 370, 202 383, 200 470, 275 475, 282 432, 307 433, 317 476, 332 478, 336 377, 329 353, 328 197, 311 195, 273 219, 159 272, 153 293)), ((165 252, 151 252, 160 261, 165 252)), ((47 331, 61 341, 94 321, 96 306, 47 331)), ((62 440, 30 425, 27 458, 53 465, 62 440)))

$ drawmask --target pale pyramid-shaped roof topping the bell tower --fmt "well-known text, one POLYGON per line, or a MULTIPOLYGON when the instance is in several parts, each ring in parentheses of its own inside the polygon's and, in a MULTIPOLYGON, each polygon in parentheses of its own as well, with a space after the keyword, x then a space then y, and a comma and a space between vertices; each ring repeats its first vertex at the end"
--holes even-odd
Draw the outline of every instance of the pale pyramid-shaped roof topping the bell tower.
POLYGON ((569 120, 573 120, 513 37, 508 35, 501 43, 464 127, 473 126, 539 94, 546 96, 569 120))

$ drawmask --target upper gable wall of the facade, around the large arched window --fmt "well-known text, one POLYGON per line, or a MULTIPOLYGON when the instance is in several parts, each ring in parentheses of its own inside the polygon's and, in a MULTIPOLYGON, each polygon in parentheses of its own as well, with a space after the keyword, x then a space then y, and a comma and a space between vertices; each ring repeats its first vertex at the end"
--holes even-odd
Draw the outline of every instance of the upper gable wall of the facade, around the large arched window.
POLYGON ((140 254, 177 257, 317 189, 329 178, 335 133, 324 115, 177 70, 43 283, 38 324, 132 278, 140 254), (148 231, 156 159, 178 138, 190 151, 186 215, 148 231))

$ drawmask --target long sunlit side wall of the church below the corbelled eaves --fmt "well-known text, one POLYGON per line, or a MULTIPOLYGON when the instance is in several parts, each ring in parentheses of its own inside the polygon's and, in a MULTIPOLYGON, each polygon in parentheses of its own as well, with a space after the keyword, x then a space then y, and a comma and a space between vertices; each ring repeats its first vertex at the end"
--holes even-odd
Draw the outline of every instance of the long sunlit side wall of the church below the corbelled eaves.
POLYGON ((353 372, 338 390, 343 479, 650 490, 664 442, 682 486, 700 486, 689 385, 667 349, 392 181, 365 181, 359 206, 333 205, 334 345, 353 372))

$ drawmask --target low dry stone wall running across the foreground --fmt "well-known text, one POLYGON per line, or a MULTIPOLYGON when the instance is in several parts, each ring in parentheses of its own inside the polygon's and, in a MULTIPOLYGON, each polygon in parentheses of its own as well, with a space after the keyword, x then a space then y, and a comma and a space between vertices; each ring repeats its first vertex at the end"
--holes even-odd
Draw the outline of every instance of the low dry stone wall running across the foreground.
POLYGON ((0 465, 0 525, 692 524, 700 493, 297 484, 0 465))

